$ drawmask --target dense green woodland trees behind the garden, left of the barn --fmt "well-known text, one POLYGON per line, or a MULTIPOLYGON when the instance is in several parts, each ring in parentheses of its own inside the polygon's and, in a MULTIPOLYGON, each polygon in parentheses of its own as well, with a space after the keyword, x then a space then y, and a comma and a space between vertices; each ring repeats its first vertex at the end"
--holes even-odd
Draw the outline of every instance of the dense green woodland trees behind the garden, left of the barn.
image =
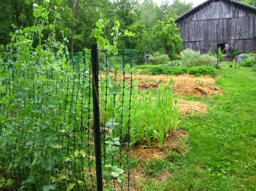
MULTIPOLYGON (((54 9, 58 0, 46 0, 54 9)), ((241 0, 242 1, 242 0, 241 0)), ((243 0, 256 6, 255 0, 243 0)), ((33 4, 45 0, 3 0, 0 4, 0 44, 10 43, 10 33, 16 29, 31 27, 34 22, 33 4), (16 27, 14 27, 16 26, 16 27)), ((159 52, 175 59, 182 50, 182 39, 174 19, 193 8, 192 3, 164 0, 160 6, 153 0, 62 0, 59 21, 55 25, 56 38, 67 38, 69 52, 83 51, 96 43, 89 38, 100 14, 110 20, 104 33, 111 43, 114 20, 120 23, 120 32, 135 33, 135 37, 122 38, 118 48, 134 49, 138 54, 159 52), (61 31, 61 32, 59 32, 61 31)), ((53 20, 49 14, 49 20, 53 20)), ((45 31, 44 38, 48 31, 45 31)), ((34 46, 37 46, 35 43, 34 46)))

